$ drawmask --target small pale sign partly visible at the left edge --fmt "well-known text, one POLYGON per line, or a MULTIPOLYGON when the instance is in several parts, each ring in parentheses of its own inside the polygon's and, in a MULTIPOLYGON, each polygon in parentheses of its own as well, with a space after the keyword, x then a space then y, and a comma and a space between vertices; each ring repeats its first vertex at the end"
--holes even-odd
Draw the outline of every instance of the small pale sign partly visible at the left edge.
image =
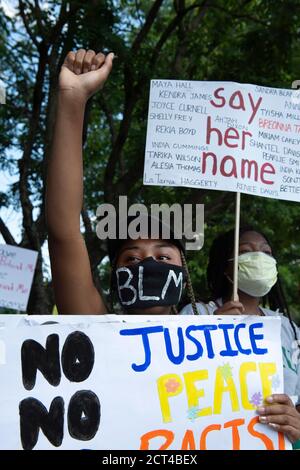
POLYGON ((0 307, 26 310, 37 252, 0 244, 0 307))

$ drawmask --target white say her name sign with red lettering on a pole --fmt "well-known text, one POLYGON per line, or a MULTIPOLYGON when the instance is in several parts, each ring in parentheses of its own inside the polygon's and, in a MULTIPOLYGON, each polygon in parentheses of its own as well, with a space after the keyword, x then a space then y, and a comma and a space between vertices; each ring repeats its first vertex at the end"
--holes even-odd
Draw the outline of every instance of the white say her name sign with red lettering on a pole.
POLYGON ((152 80, 144 184, 300 201, 300 91, 152 80))

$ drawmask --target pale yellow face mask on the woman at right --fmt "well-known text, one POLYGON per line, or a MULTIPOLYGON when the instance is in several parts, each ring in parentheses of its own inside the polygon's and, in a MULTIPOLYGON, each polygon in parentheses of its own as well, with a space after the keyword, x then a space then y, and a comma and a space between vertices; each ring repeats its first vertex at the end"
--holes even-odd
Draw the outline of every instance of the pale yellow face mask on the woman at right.
POLYGON ((238 257, 238 288, 252 297, 263 297, 277 281, 276 260, 262 251, 238 257))

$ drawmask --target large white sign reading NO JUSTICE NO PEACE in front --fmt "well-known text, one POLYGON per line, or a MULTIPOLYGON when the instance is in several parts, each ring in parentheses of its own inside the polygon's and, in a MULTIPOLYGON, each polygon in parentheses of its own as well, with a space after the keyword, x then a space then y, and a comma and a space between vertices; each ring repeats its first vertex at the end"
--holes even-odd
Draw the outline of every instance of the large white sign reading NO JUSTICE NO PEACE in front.
POLYGON ((283 391, 278 317, 58 321, 2 322, 0 449, 290 448, 256 413, 283 391))

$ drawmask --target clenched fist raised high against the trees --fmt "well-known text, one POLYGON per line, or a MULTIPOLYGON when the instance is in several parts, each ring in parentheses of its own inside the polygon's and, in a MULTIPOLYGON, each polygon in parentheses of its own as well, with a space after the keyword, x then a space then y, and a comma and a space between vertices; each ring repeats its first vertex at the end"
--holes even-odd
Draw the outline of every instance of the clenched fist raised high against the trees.
POLYGON ((84 100, 100 90, 112 69, 114 54, 105 56, 92 50, 69 52, 59 76, 59 89, 71 90, 84 100))

